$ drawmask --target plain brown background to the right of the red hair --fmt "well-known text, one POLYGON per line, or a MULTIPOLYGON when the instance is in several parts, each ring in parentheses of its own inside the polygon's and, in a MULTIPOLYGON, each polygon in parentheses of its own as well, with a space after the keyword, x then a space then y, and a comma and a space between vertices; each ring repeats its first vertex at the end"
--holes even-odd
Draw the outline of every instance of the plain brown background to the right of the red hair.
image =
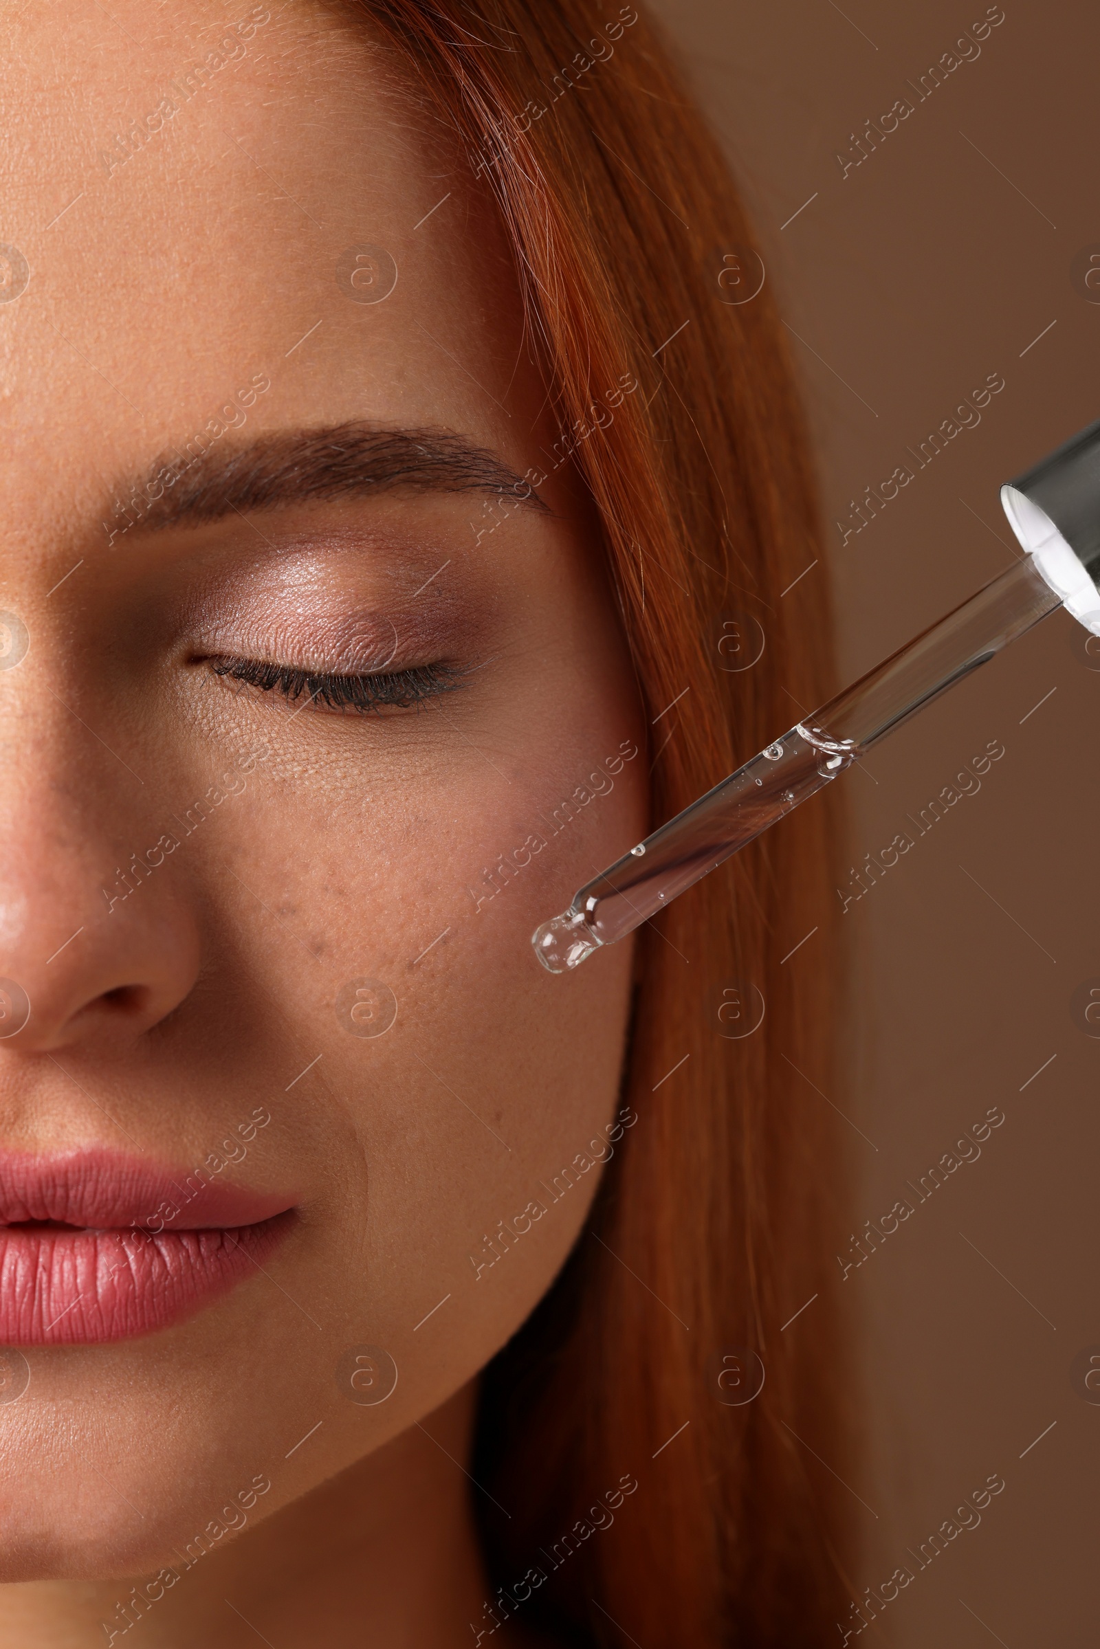
MULTIPOLYGON (((983 3, 658 10, 739 168, 798 335, 830 521, 910 462, 905 449, 986 374, 1004 378, 981 424, 844 547, 833 528, 831 566, 787 597, 813 610, 833 579, 853 679, 1009 564, 998 485, 1100 417, 1100 303, 1072 267, 1092 242, 1100 251, 1100 15, 1006 0, 981 56, 917 102, 905 81, 983 3), (912 115, 843 176, 834 153, 897 97, 912 115)), ((1006 750, 844 915, 853 1057, 833 1098, 874 1143, 853 1135, 859 1222, 909 1196, 905 1181, 986 1108, 1006 1118, 846 1283, 867 1346, 869 1449, 851 1484, 866 1502, 859 1586, 914 1568, 905 1548, 986 1476, 1006 1482, 874 1628, 904 1649, 1095 1642, 1100 1407, 1070 1384, 1074 1357, 1100 1342, 1100 1041, 1070 1014, 1075 988, 1100 983, 1100 669, 1080 637, 1055 613, 887 740, 872 778, 844 780, 854 826, 836 882, 848 887, 849 861, 915 834, 905 815, 988 740, 1006 750)))

